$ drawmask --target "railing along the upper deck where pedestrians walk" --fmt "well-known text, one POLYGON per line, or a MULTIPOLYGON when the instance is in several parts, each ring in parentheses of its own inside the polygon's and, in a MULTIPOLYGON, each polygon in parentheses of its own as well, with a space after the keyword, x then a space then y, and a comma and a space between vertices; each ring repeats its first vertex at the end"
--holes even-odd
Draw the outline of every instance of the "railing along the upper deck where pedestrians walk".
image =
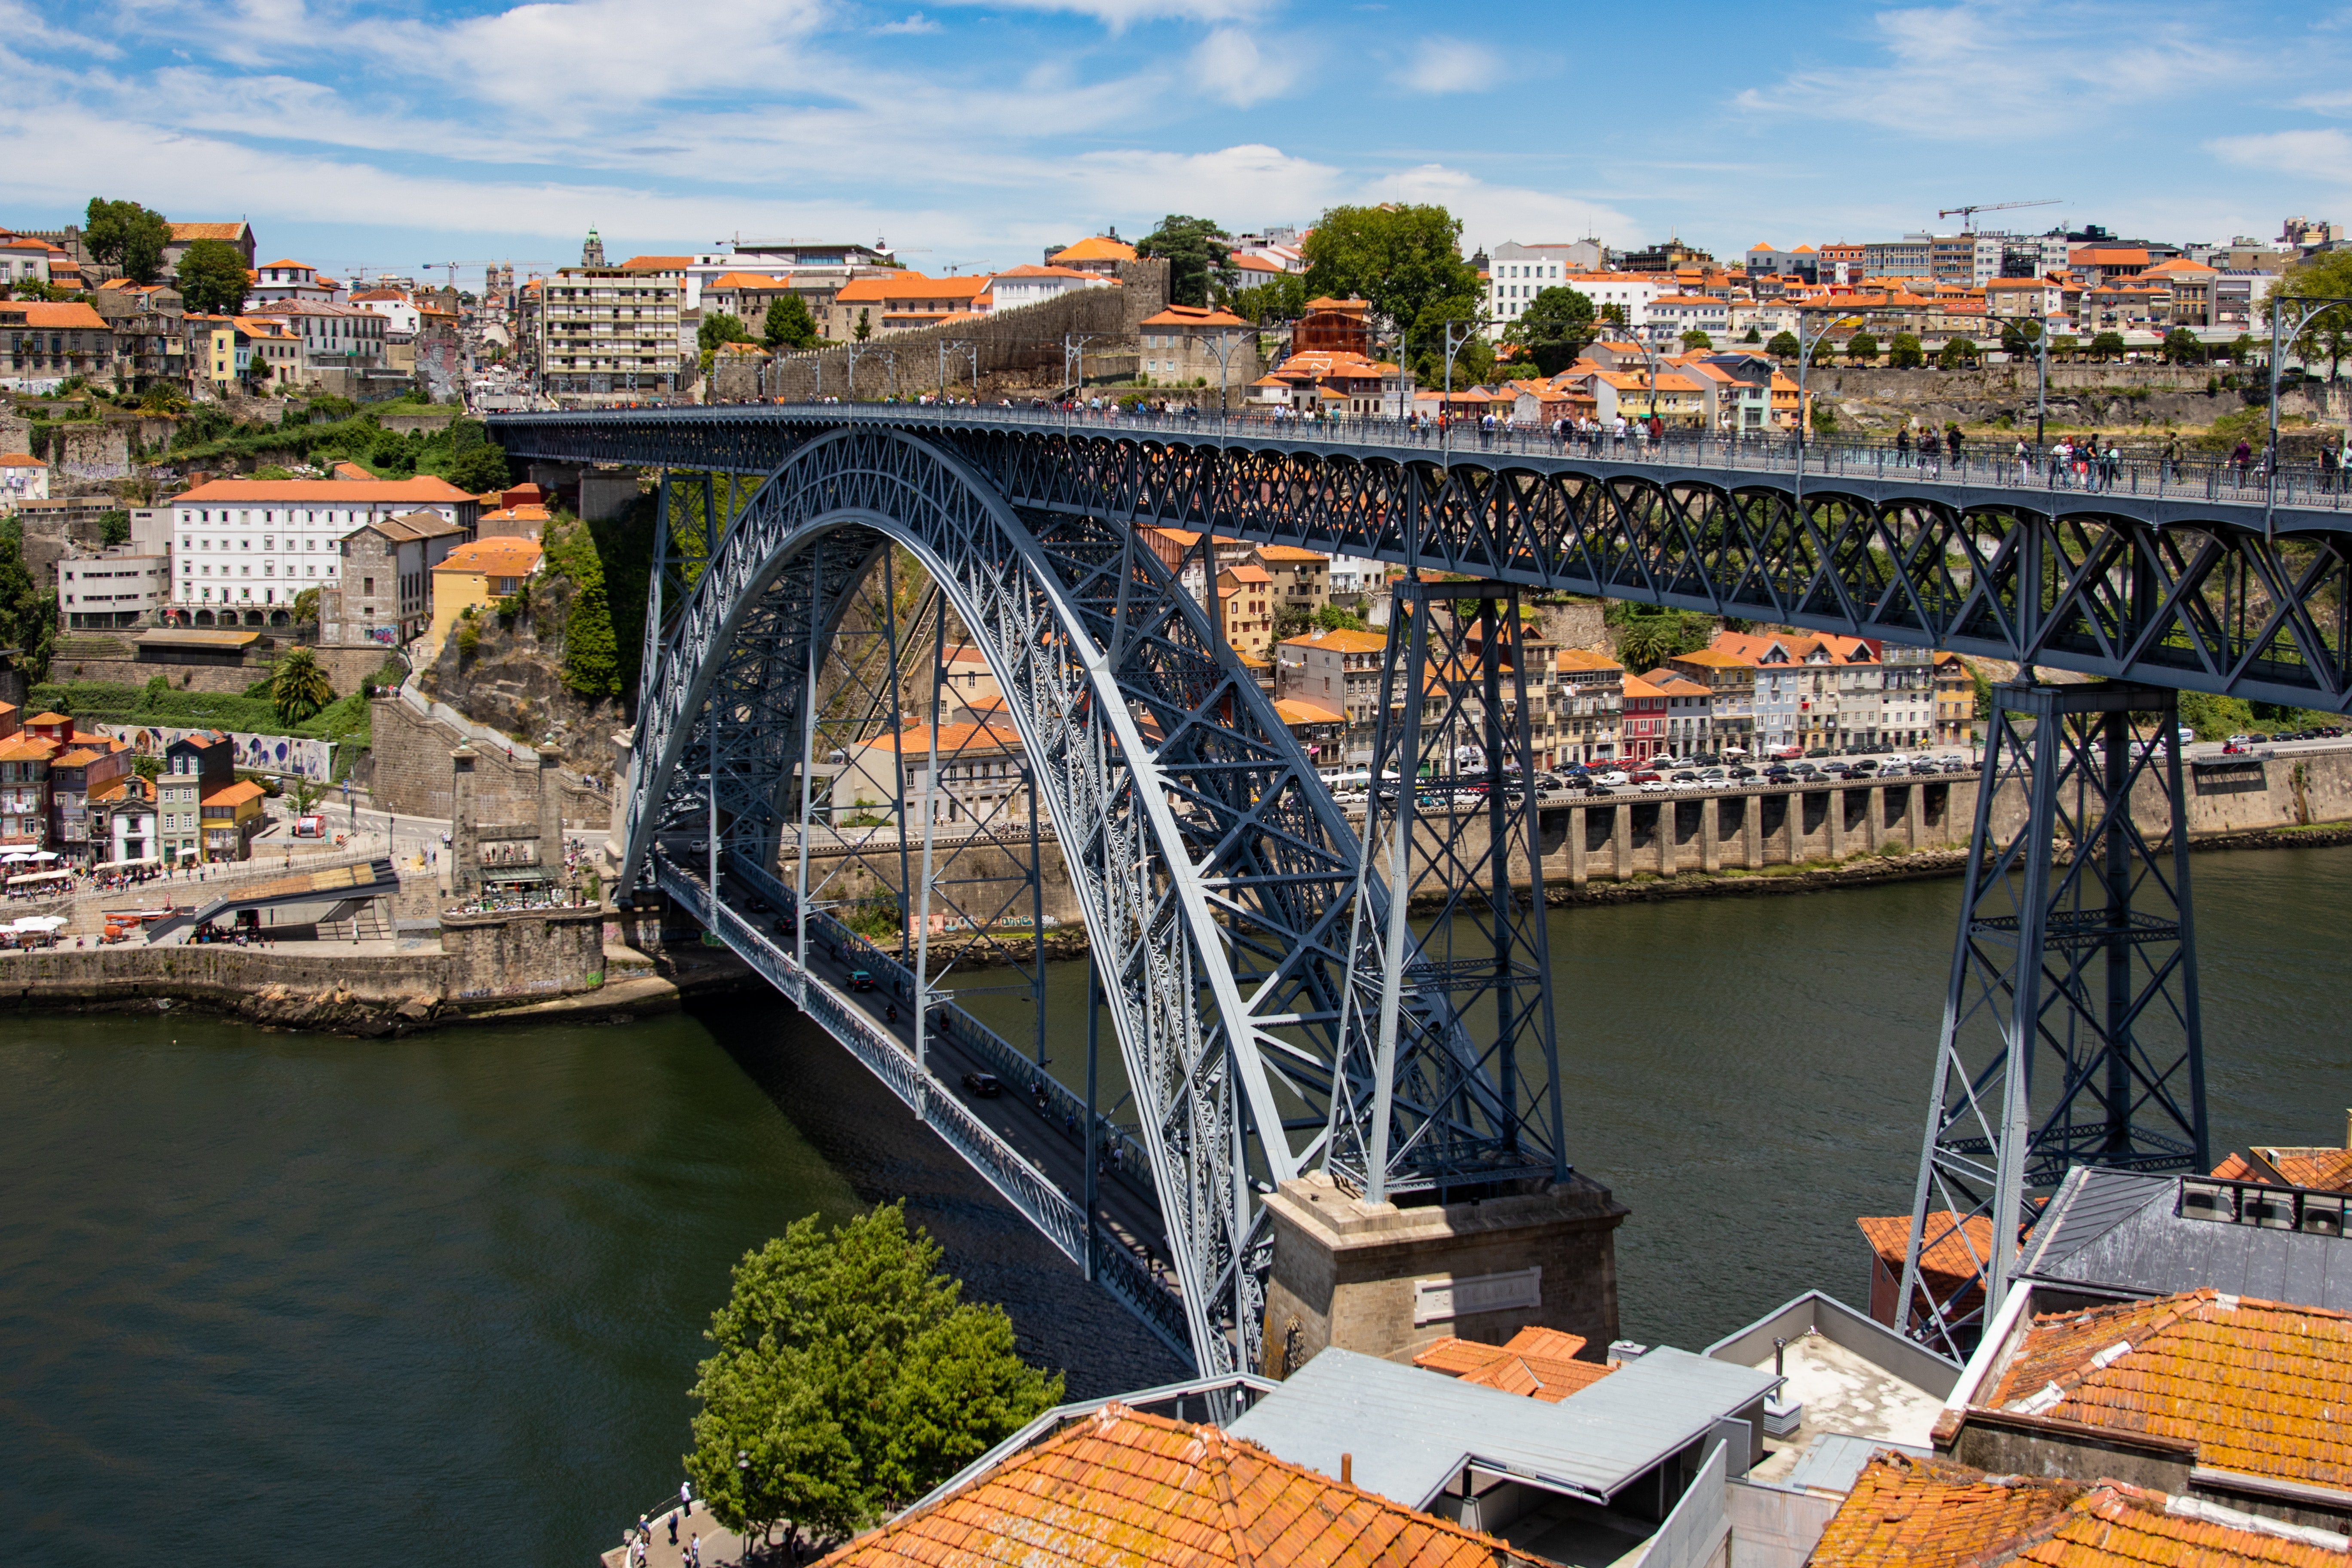
MULTIPOLYGON (((769 407, 769 404, 762 404, 769 407)), ((1722 470, 1755 475, 1797 475, 1823 480, 1896 480, 1964 489, 2042 489, 2058 494, 2114 494, 2143 501, 2204 501, 2213 505, 2258 508, 2270 501, 2270 477, 2260 456, 2246 463, 2223 454, 2164 454, 2136 447, 2103 465, 2089 454, 2051 442, 1964 444, 1959 454, 1926 456, 1893 440, 1809 437, 1802 447, 1795 433, 1717 433, 1665 430, 1651 440, 1639 423, 1625 430, 1559 430, 1517 421, 1484 428, 1479 421, 1388 414, 1315 414, 1294 416, 1287 409, 1235 414, 1200 414, 1188 409, 1087 409, 1087 407, 985 407, 985 404, 781 404, 783 409, 823 411, 837 421, 877 421, 910 425, 924 421, 957 425, 1065 428, 1073 433, 1167 435, 1178 440, 1296 440, 1334 449, 1397 449, 1428 456, 1531 456, 1583 458, 1651 468, 1722 470)), ((724 414, 727 409, 710 409, 724 414)), ((2281 463, 2277 505, 2291 510, 2352 510, 2352 470, 2312 463, 2281 463)))

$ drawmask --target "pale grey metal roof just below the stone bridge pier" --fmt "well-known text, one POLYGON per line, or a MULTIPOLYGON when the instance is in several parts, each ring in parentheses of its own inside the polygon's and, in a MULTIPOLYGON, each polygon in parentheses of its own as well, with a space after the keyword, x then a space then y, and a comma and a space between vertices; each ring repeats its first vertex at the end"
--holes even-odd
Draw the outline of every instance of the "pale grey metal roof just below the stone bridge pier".
POLYGON ((1294 1465, 1428 1507, 1465 1465, 1602 1502, 1764 1399, 1771 1373, 1653 1349, 1559 1403, 1327 1349, 1232 1422, 1294 1465))

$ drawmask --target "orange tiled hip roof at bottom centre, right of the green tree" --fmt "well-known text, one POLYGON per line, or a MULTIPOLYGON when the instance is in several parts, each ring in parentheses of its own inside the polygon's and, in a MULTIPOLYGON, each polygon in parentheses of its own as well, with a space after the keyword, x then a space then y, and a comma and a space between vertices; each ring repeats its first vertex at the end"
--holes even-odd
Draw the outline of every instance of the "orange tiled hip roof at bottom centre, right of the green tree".
POLYGON ((1512 1556, 1501 1540, 1289 1465, 1216 1427, 1108 1403, 823 1561, 828 1568, 1494 1568, 1512 1556))

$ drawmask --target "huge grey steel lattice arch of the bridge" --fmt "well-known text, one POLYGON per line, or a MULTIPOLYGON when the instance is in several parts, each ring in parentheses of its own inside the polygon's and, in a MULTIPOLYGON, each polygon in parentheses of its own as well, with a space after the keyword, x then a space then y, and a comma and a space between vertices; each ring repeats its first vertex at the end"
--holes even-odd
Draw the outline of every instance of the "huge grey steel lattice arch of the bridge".
MULTIPOLYGON (((1150 1095, 1145 1147, 1195 1354, 1247 1363, 1263 1267, 1251 1175, 1284 1180, 1315 1152, 1355 844, 1254 682, 1124 529, 1054 520, 1033 534, 985 480, 906 433, 809 442, 741 512, 647 670, 626 875, 670 806, 701 804, 680 764, 717 755, 724 773, 736 755, 724 733, 746 715, 743 686, 720 684, 729 658, 762 672, 755 684, 804 686, 807 635, 795 646, 790 628, 809 623, 811 571, 793 562, 821 559, 809 545, 844 529, 924 559, 1011 698, 1110 971, 1129 1079, 1150 1095), (771 618, 783 639, 739 658, 753 607, 779 585, 795 604, 771 618)), ((781 703, 750 729, 797 736, 781 703)), ((774 783, 731 790, 739 820, 779 797, 786 750, 753 762, 774 783)))

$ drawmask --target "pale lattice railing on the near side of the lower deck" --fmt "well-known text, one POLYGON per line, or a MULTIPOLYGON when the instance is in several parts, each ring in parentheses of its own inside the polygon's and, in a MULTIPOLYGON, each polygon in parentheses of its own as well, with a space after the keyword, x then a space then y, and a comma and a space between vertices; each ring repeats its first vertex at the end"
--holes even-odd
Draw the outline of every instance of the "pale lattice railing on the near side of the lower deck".
POLYGON ((661 889, 696 917, 706 931, 727 943, 779 992, 797 999, 809 1018, 842 1041, 868 1072, 882 1079, 915 1112, 917 1121, 938 1133, 964 1164, 981 1173, 981 1180, 1021 1211, 1070 1262, 1089 1267, 1091 1258, 1089 1272, 1096 1284, 1134 1312, 1169 1349, 1178 1356, 1192 1356, 1192 1335, 1183 1307, 1150 1269, 1136 1262, 1117 1237, 1105 1234, 1101 1225, 1089 1225, 1087 1215, 1061 1187, 964 1110, 962 1100, 908 1056, 896 1037, 880 1030, 858 1004, 833 990, 826 980, 802 973, 800 964, 781 945, 724 903, 713 900, 710 891, 691 872, 673 865, 659 849, 652 853, 652 863, 661 889))

